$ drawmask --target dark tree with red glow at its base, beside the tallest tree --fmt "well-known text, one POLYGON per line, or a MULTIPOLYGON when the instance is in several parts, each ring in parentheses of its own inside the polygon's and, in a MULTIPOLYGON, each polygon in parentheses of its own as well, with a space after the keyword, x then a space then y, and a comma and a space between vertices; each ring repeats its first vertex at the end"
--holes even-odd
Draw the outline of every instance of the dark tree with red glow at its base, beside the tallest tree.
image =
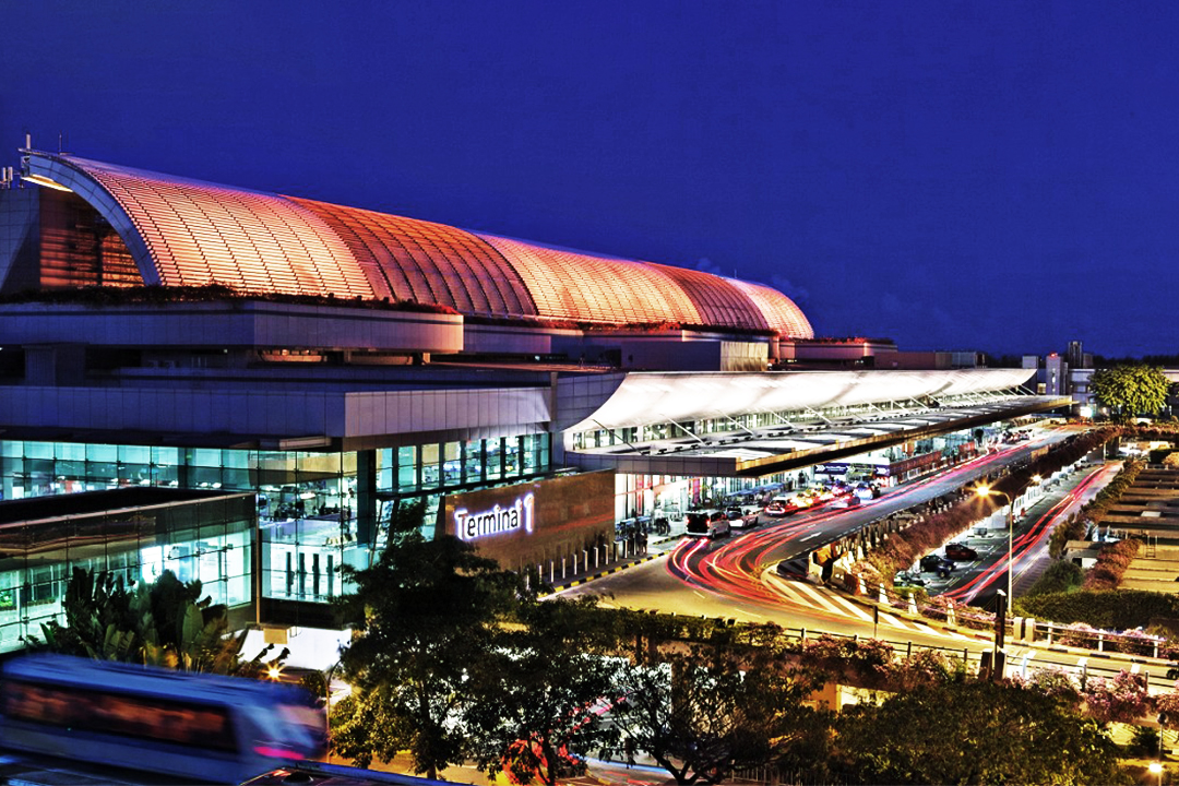
POLYGON ((553 786, 618 739, 602 714, 618 696, 612 612, 597 597, 520 606, 495 656, 480 663, 486 694, 470 713, 475 759, 488 774, 553 786))

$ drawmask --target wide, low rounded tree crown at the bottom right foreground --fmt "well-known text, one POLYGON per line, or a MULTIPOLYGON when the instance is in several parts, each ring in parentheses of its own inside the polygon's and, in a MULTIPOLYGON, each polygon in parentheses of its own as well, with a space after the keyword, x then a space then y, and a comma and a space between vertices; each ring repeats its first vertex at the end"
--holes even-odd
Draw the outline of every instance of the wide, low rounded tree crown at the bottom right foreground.
POLYGON ((845 707, 836 734, 839 782, 1129 782, 1096 721, 1020 685, 920 687, 845 707))

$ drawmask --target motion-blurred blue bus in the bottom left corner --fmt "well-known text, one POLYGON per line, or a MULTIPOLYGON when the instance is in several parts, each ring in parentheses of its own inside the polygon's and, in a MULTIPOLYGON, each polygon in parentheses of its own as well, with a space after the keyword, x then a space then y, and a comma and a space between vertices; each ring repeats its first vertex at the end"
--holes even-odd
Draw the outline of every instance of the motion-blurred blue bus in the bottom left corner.
POLYGON ((318 757, 324 716, 295 686, 132 663, 25 655, 0 674, 0 748, 191 782, 318 757))

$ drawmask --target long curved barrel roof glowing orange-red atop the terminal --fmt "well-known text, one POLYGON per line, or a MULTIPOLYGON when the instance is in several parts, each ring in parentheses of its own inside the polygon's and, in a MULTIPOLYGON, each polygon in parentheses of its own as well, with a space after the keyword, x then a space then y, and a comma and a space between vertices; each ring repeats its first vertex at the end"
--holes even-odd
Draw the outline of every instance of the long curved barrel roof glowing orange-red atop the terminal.
POLYGON ((147 284, 390 298, 460 313, 814 335, 759 284, 356 207, 29 152, 119 233, 147 284))

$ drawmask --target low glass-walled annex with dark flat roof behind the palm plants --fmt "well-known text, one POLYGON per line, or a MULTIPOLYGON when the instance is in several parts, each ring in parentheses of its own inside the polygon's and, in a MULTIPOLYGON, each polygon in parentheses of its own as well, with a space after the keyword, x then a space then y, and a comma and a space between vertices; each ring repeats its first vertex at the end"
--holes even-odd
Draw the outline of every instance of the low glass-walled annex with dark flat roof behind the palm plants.
POLYGON ((125 584, 171 570, 199 580, 215 603, 249 603, 253 514, 250 496, 224 496, 0 526, 0 652, 41 636, 44 622, 65 621, 61 599, 74 568, 105 570, 125 584))

